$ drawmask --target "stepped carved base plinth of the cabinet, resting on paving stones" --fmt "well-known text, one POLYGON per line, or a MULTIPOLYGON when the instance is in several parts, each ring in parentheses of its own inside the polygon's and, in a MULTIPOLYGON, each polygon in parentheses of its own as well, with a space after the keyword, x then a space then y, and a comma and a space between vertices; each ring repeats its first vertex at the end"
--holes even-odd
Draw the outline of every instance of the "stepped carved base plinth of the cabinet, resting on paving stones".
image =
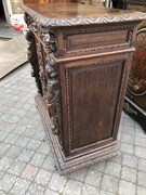
POLYGON ((120 155, 120 152, 117 146, 117 141, 112 141, 112 143, 101 146, 94 151, 85 151, 84 154, 74 154, 66 157, 63 153, 63 148, 58 142, 57 136, 53 134, 50 129, 51 119, 49 116, 49 112, 47 109, 47 105, 41 95, 36 95, 36 105, 39 110, 41 120, 43 122, 47 136, 54 152, 56 168, 61 176, 89 167, 93 164, 108 159, 110 157, 120 155))

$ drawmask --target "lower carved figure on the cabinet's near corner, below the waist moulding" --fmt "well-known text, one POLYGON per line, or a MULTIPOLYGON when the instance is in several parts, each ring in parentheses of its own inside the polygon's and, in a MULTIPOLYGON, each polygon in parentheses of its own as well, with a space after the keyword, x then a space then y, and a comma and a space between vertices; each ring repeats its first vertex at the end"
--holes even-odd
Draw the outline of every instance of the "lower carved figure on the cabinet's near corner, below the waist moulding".
POLYGON ((51 130, 54 134, 58 134, 61 126, 59 80, 56 67, 51 64, 49 57, 47 57, 45 69, 48 76, 47 103, 52 120, 51 130))

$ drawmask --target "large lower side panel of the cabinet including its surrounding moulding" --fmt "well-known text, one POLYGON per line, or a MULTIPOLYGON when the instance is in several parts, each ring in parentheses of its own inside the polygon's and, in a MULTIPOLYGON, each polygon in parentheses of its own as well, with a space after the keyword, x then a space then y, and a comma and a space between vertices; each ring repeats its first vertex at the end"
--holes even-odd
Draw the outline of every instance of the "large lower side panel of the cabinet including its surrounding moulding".
POLYGON ((105 61, 95 58, 65 65, 63 105, 67 109, 64 118, 67 129, 64 128, 63 134, 67 155, 99 148, 116 140, 128 68, 125 60, 110 56, 105 61))

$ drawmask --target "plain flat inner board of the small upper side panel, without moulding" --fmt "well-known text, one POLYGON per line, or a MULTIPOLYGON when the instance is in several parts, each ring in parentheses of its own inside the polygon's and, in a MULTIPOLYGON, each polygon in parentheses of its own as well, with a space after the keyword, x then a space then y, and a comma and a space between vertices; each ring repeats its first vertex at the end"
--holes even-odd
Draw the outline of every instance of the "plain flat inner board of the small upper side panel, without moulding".
POLYGON ((66 52, 98 47, 104 48, 125 42, 128 42, 128 30, 110 31, 110 34, 89 32, 82 35, 70 35, 66 37, 66 52))

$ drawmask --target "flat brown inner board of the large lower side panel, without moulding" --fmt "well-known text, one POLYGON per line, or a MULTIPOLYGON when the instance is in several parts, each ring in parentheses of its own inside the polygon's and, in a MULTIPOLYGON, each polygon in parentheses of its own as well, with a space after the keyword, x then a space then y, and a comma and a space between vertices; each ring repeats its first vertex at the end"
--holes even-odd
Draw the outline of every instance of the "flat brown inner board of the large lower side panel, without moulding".
POLYGON ((112 138, 123 62, 68 68, 70 148, 112 138))

